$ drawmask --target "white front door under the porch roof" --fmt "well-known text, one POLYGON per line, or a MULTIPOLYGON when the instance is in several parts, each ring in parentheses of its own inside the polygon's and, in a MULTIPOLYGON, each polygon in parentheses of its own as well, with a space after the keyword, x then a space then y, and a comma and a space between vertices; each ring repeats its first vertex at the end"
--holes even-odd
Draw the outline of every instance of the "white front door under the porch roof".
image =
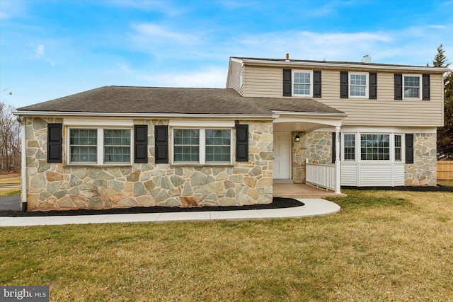
POLYGON ((291 146, 290 132, 274 132, 274 163, 273 178, 289 179, 289 147, 291 146))

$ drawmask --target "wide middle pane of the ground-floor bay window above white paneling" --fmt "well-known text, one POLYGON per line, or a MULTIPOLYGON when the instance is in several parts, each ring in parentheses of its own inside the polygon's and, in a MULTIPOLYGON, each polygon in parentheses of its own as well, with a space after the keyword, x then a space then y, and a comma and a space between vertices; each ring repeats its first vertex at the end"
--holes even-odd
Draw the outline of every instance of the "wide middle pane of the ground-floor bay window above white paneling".
POLYGON ((389 161, 389 134, 360 134, 360 158, 362 161, 389 161))

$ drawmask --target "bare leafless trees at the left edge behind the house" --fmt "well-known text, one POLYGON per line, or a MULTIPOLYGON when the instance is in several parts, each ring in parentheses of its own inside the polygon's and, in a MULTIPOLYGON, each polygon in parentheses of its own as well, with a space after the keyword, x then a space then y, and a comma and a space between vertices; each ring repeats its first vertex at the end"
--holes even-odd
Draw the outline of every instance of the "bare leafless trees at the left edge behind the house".
POLYGON ((0 170, 16 170, 21 165, 21 127, 13 110, 0 102, 0 170))

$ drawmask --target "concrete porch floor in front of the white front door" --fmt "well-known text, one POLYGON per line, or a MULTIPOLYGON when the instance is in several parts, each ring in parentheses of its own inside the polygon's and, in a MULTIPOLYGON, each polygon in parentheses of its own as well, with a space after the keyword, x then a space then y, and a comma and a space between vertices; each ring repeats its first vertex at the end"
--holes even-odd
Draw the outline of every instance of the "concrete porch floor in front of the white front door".
POLYGON ((285 184, 274 183, 273 197, 284 198, 326 198, 326 197, 345 197, 345 194, 321 189, 307 184, 285 184))

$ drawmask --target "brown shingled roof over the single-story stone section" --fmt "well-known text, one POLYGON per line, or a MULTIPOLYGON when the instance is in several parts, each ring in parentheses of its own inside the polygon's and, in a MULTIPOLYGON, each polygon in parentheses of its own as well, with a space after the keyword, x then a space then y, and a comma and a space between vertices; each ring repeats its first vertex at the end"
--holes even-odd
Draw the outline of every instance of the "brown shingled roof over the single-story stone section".
POLYGON ((104 86, 18 108, 21 112, 273 115, 273 110, 343 114, 307 98, 244 98, 234 89, 104 86))

